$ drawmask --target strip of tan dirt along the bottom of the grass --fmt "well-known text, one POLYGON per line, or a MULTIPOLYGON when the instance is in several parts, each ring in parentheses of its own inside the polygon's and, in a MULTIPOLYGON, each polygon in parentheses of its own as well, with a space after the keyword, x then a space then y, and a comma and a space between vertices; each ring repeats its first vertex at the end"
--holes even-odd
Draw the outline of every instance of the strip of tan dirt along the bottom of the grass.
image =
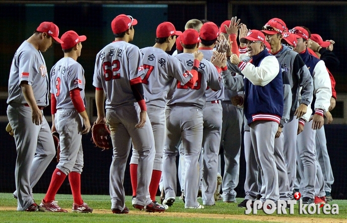
MULTIPOLYGON (((0 211, 15 211, 14 207, 0 207, 0 211)), ((111 210, 94 210, 94 214, 111 214, 111 210)), ((309 217, 277 217, 277 216, 255 216, 255 215, 218 215, 218 214, 203 214, 203 213, 147 213, 140 211, 131 211, 129 215, 158 215, 181 218, 204 218, 204 219, 230 219, 256 222, 282 222, 282 223, 347 223, 346 219, 331 219, 331 218, 309 218, 309 217)))

